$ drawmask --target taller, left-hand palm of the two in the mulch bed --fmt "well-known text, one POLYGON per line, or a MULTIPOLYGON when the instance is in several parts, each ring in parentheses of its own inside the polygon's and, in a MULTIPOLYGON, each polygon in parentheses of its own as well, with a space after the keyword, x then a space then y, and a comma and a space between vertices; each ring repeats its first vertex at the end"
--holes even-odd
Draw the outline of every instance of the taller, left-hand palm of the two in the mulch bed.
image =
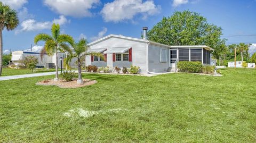
POLYGON ((47 35, 45 33, 39 33, 35 39, 35 44, 38 41, 44 41, 45 45, 41 51, 41 58, 43 54, 47 53, 48 55, 53 55, 55 53, 55 81, 59 79, 58 74, 58 52, 69 51, 69 45, 74 44, 74 39, 65 34, 60 34, 60 25, 59 24, 52 24, 52 36, 47 35))

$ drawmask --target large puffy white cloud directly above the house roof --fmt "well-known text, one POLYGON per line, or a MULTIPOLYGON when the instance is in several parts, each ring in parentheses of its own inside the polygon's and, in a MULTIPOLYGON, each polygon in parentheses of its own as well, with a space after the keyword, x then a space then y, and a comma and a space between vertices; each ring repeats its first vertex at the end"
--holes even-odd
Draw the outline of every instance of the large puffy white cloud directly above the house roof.
POLYGON ((106 22, 121 22, 133 20, 137 14, 142 14, 142 19, 161 11, 161 6, 155 5, 154 1, 142 2, 142 0, 115 0, 106 3, 101 10, 101 15, 106 22))

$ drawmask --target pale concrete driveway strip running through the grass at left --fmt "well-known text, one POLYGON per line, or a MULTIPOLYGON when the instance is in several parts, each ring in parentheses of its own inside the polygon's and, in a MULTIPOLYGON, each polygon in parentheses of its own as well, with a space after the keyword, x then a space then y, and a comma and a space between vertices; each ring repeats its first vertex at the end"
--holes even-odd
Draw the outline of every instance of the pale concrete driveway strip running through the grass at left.
POLYGON ((42 73, 31 73, 31 74, 22 74, 22 75, 11 75, 11 76, 0 77, 0 81, 1 80, 11 80, 11 79, 41 77, 41 76, 54 75, 54 74, 55 74, 55 72, 42 72, 42 73))

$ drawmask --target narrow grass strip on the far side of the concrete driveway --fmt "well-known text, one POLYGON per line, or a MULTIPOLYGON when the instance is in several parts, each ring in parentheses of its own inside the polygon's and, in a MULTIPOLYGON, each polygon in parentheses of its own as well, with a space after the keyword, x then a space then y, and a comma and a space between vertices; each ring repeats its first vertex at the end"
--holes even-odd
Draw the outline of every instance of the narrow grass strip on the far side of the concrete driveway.
POLYGON ((19 74, 29 74, 29 73, 39 73, 39 72, 52 72, 55 69, 36 69, 35 72, 32 72, 28 69, 10 69, 10 68, 3 68, 2 76, 9 76, 9 75, 19 75, 19 74))

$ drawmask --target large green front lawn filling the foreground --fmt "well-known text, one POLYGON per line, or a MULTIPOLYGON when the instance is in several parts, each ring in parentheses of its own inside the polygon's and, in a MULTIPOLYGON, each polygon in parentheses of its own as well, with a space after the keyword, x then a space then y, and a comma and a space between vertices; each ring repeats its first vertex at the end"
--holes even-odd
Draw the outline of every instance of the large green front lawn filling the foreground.
POLYGON ((0 142, 256 142, 256 70, 221 72, 84 74, 98 83, 77 89, 0 81, 0 142))

